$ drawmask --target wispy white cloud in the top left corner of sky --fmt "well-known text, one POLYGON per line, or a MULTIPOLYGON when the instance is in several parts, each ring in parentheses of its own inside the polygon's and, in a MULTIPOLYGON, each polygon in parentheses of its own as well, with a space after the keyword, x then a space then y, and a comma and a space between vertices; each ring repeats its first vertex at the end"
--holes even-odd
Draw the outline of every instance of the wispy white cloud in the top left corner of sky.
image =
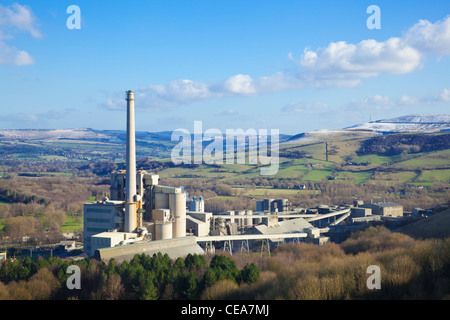
POLYGON ((36 39, 42 37, 31 9, 18 3, 8 7, 0 5, 0 28, 0 64, 15 66, 33 64, 34 60, 30 54, 6 42, 14 39, 12 34, 17 32, 27 32, 36 39))

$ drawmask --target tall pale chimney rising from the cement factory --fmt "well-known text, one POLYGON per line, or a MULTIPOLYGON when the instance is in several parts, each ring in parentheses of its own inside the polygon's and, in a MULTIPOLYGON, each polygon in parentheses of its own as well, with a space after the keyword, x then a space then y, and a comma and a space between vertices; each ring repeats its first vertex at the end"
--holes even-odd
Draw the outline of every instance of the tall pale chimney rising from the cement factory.
POLYGON ((137 226, 136 196, 136 139, 134 122, 134 91, 127 91, 127 173, 125 189, 125 232, 133 232, 137 226))

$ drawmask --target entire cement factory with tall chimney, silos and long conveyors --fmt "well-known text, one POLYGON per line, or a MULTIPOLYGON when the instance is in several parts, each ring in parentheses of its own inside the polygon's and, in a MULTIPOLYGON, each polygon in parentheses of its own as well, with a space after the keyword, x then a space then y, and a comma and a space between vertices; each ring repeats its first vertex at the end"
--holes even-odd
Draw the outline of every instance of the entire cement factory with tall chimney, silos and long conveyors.
POLYGON ((345 219, 373 221, 403 214, 401 206, 388 203, 291 209, 287 199, 258 201, 254 212, 205 212, 202 197, 189 199, 184 188, 159 185, 158 175, 136 170, 133 91, 126 92, 126 101, 126 170, 111 174, 110 199, 84 205, 84 251, 90 257, 123 261, 161 252, 176 259, 216 247, 231 254, 254 248, 270 252, 282 241, 323 244, 329 240, 324 234, 345 219))

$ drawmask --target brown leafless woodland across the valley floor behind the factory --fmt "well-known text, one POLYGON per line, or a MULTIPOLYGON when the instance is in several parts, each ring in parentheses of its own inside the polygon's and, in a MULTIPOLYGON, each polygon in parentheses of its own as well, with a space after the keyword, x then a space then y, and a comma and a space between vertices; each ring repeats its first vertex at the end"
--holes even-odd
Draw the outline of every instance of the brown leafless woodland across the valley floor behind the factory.
MULTIPOLYGON (((109 196, 109 177, 11 176, 0 179, 0 239, 10 241, 28 235, 29 244, 62 240, 61 231, 82 230, 82 208, 89 201, 109 196), (66 225, 70 222, 72 230, 66 225), (69 229, 67 229, 69 228, 69 229)), ((163 178, 160 184, 183 186, 190 197, 203 196, 205 211, 256 210, 256 201, 287 198, 292 208, 311 208, 321 204, 352 203, 355 196, 365 202, 392 201, 405 210, 433 209, 448 203, 446 184, 420 189, 415 186, 385 187, 378 184, 355 185, 347 181, 301 181, 296 178, 244 178, 239 181, 163 178), (303 183, 308 192, 295 192, 303 183), (261 192, 253 196, 251 192, 261 192), (292 192, 294 191, 294 192, 292 192), (273 194, 276 192, 276 194, 273 194)))

